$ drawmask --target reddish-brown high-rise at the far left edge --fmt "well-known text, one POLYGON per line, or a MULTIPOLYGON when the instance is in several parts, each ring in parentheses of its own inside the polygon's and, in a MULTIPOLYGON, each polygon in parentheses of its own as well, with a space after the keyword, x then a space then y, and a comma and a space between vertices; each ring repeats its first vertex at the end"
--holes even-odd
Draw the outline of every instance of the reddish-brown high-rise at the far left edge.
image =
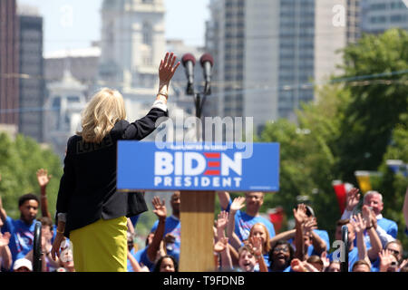
POLYGON ((18 19, 15 0, 0 1, 0 123, 18 126, 18 19))

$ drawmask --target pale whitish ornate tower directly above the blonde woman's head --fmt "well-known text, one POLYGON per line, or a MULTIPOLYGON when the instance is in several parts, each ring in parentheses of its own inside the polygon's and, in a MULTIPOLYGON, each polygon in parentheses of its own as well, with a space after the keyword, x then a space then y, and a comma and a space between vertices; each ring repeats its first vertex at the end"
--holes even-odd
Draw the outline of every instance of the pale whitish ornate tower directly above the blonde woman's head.
POLYGON ((100 80, 125 97, 156 93, 157 70, 166 49, 162 0, 104 0, 100 80))

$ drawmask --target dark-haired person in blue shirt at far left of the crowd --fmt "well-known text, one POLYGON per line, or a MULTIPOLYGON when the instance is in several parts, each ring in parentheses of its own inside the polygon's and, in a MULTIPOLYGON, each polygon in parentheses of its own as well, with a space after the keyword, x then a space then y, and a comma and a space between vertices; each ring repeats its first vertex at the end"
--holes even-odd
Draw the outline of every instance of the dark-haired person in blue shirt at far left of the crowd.
POLYGON ((18 199, 18 209, 20 218, 13 219, 7 217, 5 208, 0 204, 0 216, 5 224, 2 227, 2 233, 10 233, 10 251, 13 257, 13 263, 20 258, 24 258, 33 248, 34 244, 34 227, 38 212, 39 200, 32 194, 28 193, 18 199))

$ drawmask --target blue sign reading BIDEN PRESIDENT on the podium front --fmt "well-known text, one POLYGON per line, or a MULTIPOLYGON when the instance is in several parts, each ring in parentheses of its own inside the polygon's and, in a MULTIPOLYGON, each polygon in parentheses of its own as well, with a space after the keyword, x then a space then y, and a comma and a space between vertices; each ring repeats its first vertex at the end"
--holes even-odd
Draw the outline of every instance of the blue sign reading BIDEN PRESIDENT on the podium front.
POLYGON ((117 189, 278 191, 279 144, 121 140, 117 189))

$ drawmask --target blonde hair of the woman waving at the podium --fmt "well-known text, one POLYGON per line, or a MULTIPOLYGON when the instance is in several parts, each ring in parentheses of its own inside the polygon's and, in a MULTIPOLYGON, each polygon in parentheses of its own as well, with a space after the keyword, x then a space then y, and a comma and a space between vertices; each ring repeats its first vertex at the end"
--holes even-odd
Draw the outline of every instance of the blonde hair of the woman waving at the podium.
POLYGON ((77 132, 85 142, 100 143, 117 121, 126 119, 121 93, 109 88, 96 92, 83 110, 83 131, 77 132))

